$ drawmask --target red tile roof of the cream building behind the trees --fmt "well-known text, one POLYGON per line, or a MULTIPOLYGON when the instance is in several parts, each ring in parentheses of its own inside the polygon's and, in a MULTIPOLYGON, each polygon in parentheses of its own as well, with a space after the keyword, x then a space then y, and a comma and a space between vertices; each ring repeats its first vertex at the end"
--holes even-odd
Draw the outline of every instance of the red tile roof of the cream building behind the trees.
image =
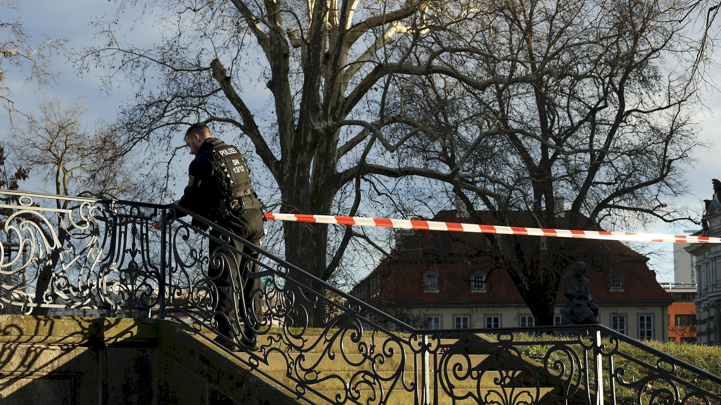
MULTIPOLYGON (((520 216, 520 215, 519 215, 520 216)), ((482 213, 482 218, 492 223, 490 213, 482 213)), ((556 218, 557 224, 563 224, 565 218, 556 218)), ((453 211, 443 211, 433 218, 434 221, 475 222, 471 218, 456 218, 453 211)), ((516 225, 516 224, 510 224, 516 225)), ((529 225, 530 226, 530 225, 529 225)), ((403 233, 402 233, 403 234, 403 233)), ((376 270, 371 272, 353 289, 361 298, 371 303, 393 306, 459 306, 479 303, 482 305, 523 305, 510 276, 505 270, 495 266, 495 260, 485 255, 487 237, 482 233, 456 233, 442 231, 410 231, 404 233, 405 239, 393 254, 399 260, 384 259, 376 270), (438 273, 438 293, 424 290, 425 272, 438 273), (474 272, 487 272, 486 293, 471 292, 471 277, 474 272), (365 295, 362 291, 365 290, 365 295), (377 294, 376 294, 377 293, 377 294), (371 295, 373 298, 370 298, 371 295)), ((526 248, 538 244, 539 239, 521 236, 519 242, 526 248)), ((673 298, 660 287, 655 272, 648 269, 647 257, 634 252, 619 241, 593 241, 588 239, 564 239, 557 243, 568 246, 575 257, 588 264, 586 277, 590 280, 591 295, 594 301, 613 301, 616 303, 635 303, 639 301, 671 302, 673 298), (611 271, 620 275, 624 291, 609 290, 611 271)), ((510 239, 503 236, 502 244, 506 252, 510 248, 510 239)), ((542 251, 541 251, 542 252, 542 251)), ((541 277, 544 266, 540 264, 541 277)), ((557 306, 563 305, 564 297, 557 293, 557 306)))

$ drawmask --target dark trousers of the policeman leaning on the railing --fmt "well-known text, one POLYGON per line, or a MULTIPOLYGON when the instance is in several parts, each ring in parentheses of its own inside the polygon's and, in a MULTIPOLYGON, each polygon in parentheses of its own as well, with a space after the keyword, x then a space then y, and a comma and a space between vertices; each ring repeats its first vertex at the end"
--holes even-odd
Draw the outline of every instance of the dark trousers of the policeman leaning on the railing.
MULTIPOLYGON (((217 223, 242 239, 257 245, 263 236, 262 218, 261 210, 249 209, 239 218, 228 216, 218 220, 217 223)), ((225 239, 218 231, 211 229, 210 233, 213 237, 225 239)), ((239 241, 231 239, 228 245, 250 257, 257 258, 254 249, 239 241)), ((260 293, 254 295, 253 292, 260 289, 262 283, 260 278, 251 278, 248 274, 257 272, 257 264, 241 254, 231 252, 224 244, 210 241, 209 248, 211 257, 208 277, 215 278, 213 284, 218 292, 216 314, 213 316, 217 322, 217 331, 230 339, 237 336, 240 340, 252 340, 261 313, 260 293), (245 325, 244 330, 240 328, 240 321, 245 325)))

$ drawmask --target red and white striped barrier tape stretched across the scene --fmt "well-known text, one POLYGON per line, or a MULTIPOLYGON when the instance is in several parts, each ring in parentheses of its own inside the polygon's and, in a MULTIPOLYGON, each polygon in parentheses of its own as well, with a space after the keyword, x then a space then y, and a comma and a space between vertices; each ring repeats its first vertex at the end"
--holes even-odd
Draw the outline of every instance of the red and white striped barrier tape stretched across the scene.
POLYGON ((457 223, 438 221, 415 221, 392 218, 342 217, 333 215, 304 215, 266 213, 265 218, 279 221, 312 223, 335 223, 338 225, 382 226, 386 228, 430 229, 431 231, 456 231, 474 233, 503 233, 505 235, 557 236, 559 238, 606 239, 614 241, 645 242, 687 242, 721 243, 721 238, 710 236, 684 236, 668 233, 636 233, 606 231, 572 231, 569 229, 524 228, 520 226, 493 226, 477 223, 457 223))

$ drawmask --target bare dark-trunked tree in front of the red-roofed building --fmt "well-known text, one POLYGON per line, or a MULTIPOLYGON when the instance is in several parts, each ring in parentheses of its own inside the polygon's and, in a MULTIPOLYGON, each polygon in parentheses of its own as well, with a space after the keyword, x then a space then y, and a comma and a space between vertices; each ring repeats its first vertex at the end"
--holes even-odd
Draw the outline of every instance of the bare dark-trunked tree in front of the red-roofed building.
MULTIPOLYGON (((693 86, 683 76, 696 49, 682 22, 668 22, 671 6, 497 4, 474 35, 484 53, 474 67, 508 81, 485 92, 453 78, 415 81, 404 108, 441 135, 404 145, 396 169, 372 169, 389 177, 437 172, 472 216, 490 210, 506 226, 620 230, 691 219, 674 200, 686 191, 684 166, 699 146, 689 118, 693 86), (514 80, 541 66, 557 73, 514 80), (420 117, 428 111, 433 117, 420 117), (471 112, 477 118, 468 120, 471 112)), ((512 249, 491 254, 539 324, 552 324, 572 260, 593 252, 618 264, 578 240, 508 237, 503 246, 512 249)))

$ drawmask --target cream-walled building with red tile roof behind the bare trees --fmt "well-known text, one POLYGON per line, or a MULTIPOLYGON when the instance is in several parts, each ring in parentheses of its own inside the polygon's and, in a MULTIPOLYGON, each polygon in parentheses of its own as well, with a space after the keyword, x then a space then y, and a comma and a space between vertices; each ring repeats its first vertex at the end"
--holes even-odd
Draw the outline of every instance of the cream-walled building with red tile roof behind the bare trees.
MULTIPOLYGON (((490 213, 480 213, 480 218, 494 224, 490 213)), ((562 217, 555 219, 564 223, 562 217)), ((433 221, 473 222, 456 217, 455 211, 442 211, 433 221)), ((496 249, 511 254, 510 236, 499 239, 496 249)), ((547 243, 543 237, 519 237, 523 249, 540 251, 539 277, 548 274, 544 272, 550 265, 547 243)), ((586 277, 593 301, 601 308, 601 324, 631 337, 668 339, 668 306, 673 298, 647 267, 647 257, 619 241, 565 239, 562 243, 574 259, 588 264, 586 277)), ((420 328, 534 325, 516 285, 490 254, 494 246, 482 233, 401 230, 393 258, 384 259, 351 293, 420 328)), ((557 324, 565 302, 560 289, 559 283, 557 324)))

